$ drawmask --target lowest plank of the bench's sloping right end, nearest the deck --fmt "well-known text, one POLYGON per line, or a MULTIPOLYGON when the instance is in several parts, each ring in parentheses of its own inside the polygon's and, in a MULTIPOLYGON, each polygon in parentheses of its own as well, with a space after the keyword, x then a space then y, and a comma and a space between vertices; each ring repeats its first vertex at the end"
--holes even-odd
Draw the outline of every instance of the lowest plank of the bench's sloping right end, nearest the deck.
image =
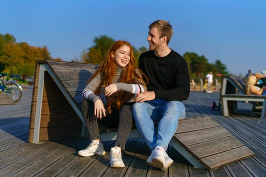
POLYGON ((244 158, 248 158, 254 153, 246 146, 216 154, 210 157, 201 159, 209 170, 217 169, 220 166, 232 163, 244 158))

